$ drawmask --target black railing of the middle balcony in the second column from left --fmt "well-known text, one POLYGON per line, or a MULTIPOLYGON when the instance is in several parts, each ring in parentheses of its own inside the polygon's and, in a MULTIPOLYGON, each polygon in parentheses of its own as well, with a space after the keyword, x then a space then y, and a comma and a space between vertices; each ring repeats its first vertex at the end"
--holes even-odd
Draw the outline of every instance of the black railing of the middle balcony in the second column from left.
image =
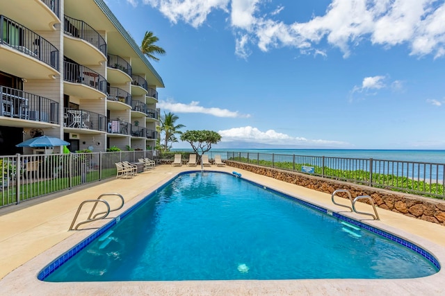
POLYGON ((106 80, 104 76, 81 64, 65 61, 63 65, 63 80, 88 85, 100 92, 106 93, 106 80))

